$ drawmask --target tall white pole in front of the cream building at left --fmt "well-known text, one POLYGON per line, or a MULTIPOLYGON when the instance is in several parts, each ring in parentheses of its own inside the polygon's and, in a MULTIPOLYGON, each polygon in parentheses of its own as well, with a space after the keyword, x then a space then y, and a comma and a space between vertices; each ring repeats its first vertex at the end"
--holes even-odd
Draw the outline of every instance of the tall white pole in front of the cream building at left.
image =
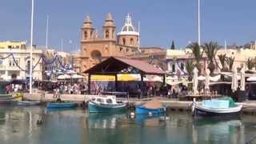
POLYGON ((34 24, 34 0, 31 6, 31 30, 30 30, 30 94, 32 94, 32 51, 33 51, 33 24, 34 24))

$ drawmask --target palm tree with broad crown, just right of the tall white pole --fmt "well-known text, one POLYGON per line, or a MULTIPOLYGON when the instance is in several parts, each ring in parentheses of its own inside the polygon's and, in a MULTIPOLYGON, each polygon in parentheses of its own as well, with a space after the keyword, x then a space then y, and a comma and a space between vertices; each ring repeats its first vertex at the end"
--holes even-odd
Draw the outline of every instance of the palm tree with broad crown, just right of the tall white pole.
POLYGON ((215 69, 214 58, 218 51, 218 43, 217 42, 208 42, 208 43, 205 43, 202 46, 202 48, 205 51, 208 60, 210 61, 208 68, 210 70, 210 74, 212 75, 212 74, 214 74, 214 69, 215 69))

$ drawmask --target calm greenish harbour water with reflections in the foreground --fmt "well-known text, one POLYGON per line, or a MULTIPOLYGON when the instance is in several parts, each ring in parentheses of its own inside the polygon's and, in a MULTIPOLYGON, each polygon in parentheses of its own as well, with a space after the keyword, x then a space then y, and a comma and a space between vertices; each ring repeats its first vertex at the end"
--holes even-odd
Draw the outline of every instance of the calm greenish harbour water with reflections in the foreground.
POLYGON ((255 116, 192 118, 187 112, 170 111, 166 121, 161 121, 159 117, 127 115, 0 106, 0 143, 256 143, 255 116))

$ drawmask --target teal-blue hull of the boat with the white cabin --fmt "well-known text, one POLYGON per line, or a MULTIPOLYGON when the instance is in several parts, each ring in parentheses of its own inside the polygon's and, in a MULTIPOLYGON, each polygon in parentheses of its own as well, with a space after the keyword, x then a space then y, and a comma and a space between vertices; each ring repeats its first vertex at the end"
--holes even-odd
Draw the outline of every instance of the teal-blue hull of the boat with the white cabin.
POLYGON ((126 103, 119 105, 100 105, 94 102, 89 102, 90 113, 111 113, 120 112, 122 110, 126 110, 126 103))

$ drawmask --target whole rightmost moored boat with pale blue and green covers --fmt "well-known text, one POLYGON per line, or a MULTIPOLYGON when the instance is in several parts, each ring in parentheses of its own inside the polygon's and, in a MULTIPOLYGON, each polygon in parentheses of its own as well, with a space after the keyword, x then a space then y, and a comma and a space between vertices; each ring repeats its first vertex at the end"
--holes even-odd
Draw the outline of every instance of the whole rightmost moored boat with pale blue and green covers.
POLYGON ((204 100, 202 102, 193 102, 192 112, 194 115, 202 116, 228 116, 238 115, 242 110, 242 104, 234 103, 232 98, 216 98, 204 100))

